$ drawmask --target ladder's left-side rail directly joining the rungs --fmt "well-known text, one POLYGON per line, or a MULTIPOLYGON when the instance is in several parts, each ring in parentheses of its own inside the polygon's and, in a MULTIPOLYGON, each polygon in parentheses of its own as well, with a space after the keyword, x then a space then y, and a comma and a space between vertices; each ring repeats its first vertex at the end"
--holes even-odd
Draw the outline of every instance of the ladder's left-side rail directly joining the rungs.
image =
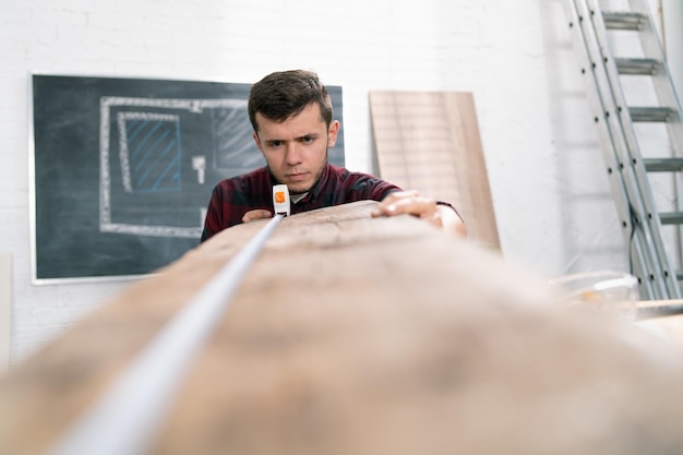
POLYGON ((585 0, 585 17, 590 19, 592 39, 597 43, 597 52, 594 61, 597 64, 599 74, 604 74, 606 112, 613 112, 609 116, 614 128, 614 134, 623 146, 618 147, 620 153, 620 165, 623 166, 624 177, 631 188, 630 195, 634 195, 640 201, 642 206, 636 206, 638 223, 642 223, 650 243, 655 248, 657 266, 652 268, 655 276, 650 279, 661 280, 667 288, 667 298, 680 298, 681 290, 676 278, 675 268, 664 247, 661 236, 661 220, 655 204, 647 170, 643 161, 633 120, 626 106, 626 99, 621 87, 620 74, 616 60, 610 50, 607 27, 602 19, 599 4, 594 0, 585 0))

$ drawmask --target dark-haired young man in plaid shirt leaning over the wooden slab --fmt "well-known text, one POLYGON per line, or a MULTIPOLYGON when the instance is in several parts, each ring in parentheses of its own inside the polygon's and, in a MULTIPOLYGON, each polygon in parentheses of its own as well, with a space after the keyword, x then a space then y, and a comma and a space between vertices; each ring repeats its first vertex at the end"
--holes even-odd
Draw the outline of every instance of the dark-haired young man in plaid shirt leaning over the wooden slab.
POLYGON ((272 73, 249 94, 249 119, 266 166, 220 181, 214 188, 202 241, 230 226, 273 216, 273 185, 285 183, 291 214, 349 202, 381 201, 372 216, 411 214, 445 230, 466 235, 447 203, 403 191, 395 184, 327 163, 339 122, 332 118, 327 89, 310 71, 272 73))

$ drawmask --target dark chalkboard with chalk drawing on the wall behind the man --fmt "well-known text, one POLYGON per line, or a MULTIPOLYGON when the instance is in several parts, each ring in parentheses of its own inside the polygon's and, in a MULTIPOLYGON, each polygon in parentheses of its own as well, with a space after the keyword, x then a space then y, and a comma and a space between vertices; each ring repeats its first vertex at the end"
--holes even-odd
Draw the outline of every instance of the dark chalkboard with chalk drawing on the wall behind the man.
MULTIPOLYGON (((211 191, 265 164, 250 84, 32 75, 34 280, 149 274, 196 247, 211 191)), ((340 120, 342 87, 328 86, 340 120)), ((329 151, 344 166, 344 134, 329 151)))

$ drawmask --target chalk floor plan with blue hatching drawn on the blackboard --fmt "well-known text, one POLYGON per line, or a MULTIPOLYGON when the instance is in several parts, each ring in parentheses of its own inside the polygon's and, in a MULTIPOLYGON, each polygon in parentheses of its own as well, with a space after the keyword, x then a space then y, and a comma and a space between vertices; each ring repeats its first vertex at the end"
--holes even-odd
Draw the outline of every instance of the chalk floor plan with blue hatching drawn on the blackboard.
POLYGON ((178 196, 205 183, 208 163, 223 173, 264 163, 247 100, 232 98, 101 97, 99 149, 99 229, 139 236, 199 239, 205 206, 189 221, 173 213, 178 196))

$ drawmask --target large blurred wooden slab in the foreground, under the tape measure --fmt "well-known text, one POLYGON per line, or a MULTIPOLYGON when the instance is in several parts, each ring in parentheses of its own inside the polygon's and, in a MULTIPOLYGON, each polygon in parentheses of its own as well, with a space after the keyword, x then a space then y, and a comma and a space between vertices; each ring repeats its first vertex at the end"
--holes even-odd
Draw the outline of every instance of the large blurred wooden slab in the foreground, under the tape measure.
MULTIPOLYGON (((680 351, 374 204, 281 223, 151 453, 683 453, 680 351)), ((0 381, 0 453, 51 447, 264 224, 220 232, 0 381)))

